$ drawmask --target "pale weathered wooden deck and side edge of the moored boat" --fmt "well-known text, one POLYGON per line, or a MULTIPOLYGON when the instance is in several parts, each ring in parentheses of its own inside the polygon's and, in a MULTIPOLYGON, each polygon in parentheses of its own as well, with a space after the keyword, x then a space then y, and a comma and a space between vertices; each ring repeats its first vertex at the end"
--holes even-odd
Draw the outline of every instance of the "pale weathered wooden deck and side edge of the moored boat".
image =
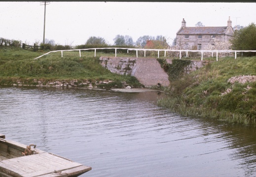
MULTIPOLYGON (((14 151, 25 145, 0 139, 0 177, 77 177, 92 168, 70 159, 36 150, 36 154, 15 157, 14 151), (15 147, 16 148, 13 148, 15 147), (6 152, 5 152, 6 151, 6 152), (8 151, 13 151, 9 158, 8 151)), ((26 146, 25 146, 26 147, 26 146)), ((24 148, 23 148, 24 149, 24 148)), ((18 152, 20 154, 20 152, 18 152)))

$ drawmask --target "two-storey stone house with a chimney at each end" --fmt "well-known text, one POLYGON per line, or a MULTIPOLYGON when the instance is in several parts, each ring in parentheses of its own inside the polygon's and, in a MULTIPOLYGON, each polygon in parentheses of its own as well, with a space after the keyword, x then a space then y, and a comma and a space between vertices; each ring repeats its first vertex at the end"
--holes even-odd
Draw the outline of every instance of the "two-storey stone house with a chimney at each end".
POLYGON ((234 35, 230 17, 226 27, 186 27, 183 19, 182 27, 176 36, 176 45, 182 49, 206 50, 209 44, 215 45, 215 41, 229 41, 234 35))

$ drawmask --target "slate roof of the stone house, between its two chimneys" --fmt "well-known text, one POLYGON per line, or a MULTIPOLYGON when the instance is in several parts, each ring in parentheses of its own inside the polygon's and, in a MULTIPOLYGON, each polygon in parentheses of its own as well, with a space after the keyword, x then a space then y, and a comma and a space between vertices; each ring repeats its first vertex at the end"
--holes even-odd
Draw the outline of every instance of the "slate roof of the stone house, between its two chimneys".
POLYGON ((225 34, 227 27, 185 27, 177 34, 225 34))

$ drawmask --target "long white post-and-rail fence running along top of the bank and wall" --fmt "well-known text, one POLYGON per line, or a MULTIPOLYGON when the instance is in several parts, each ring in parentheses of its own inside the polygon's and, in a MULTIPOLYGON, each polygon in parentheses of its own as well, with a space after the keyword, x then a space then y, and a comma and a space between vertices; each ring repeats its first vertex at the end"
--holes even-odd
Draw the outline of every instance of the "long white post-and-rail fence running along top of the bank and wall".
POLYGON ((237 57, 237 53, 239 52, 256 52, 256 50, 170 50, 170 49, 136 49, 136 48, 91 48, 91 49, 71 49, 71 50, 58 50, 58 51, 50 51, 46 54, 43 54, 36 59, 41 58, 42 56, 48 55, 53 52, 61 52, 61 57, 63 57, 63 52, 68 52, 68 51, 79 51, 79 56, 81 57, 81 51, 86 51, 86 50, 94 50, 94 57, 96 57, 96 50, 102 50, 102 49, 115 49, 115 57, 117 53, 117 49, 126 49, 127 53, 129 51, 136 51, 136 57, 138 58, 138 51, 144 51, 144 57, 146 57, 146 51, 157 51, 158 52, 158 58, 159 58, 159 53, 160 51, 164 51, 164 57, 166 57, 166 52, 180 52, 180 59, 182 58, 182 52, 186 53, 186 57, 188 56, 188 52, 200 52, 201 53, 201 60, 203 60, 203 53, 212 53, 212 57, 214 53, 216 53, 216 60, 218 61, 218 54, 219 53, 234 53, 235 54, 235 59, 237 57))

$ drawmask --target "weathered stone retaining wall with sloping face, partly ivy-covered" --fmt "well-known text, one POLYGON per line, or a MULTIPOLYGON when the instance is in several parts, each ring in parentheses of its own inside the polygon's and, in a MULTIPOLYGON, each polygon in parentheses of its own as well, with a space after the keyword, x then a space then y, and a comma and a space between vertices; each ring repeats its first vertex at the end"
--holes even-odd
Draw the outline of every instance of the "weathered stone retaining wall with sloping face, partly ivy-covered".
MULTIPOLYGON (((166 59, 172 63, 171 59, 166 59)), ((169 86, 167 73, 155 58, 101 57, 100 64, 116 74, 130 74, 145 86, 169 86)), ((192 61, 184 68, 187 73, 205 65, 205 61, 192 61)))

